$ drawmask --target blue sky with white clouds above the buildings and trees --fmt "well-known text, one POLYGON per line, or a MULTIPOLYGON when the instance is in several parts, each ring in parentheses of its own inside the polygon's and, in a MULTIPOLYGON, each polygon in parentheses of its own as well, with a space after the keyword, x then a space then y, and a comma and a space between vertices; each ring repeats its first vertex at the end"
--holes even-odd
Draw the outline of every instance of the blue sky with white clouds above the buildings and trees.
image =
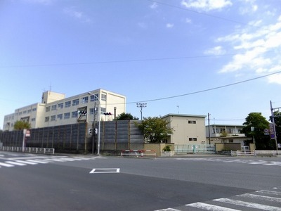
POLYGON ((50 87, 107 89, 133 116, 144 102, 144 117, 210 113, 211 124, 281 107, 280 1, 1 0, 0 29, 0 128, 50 87))

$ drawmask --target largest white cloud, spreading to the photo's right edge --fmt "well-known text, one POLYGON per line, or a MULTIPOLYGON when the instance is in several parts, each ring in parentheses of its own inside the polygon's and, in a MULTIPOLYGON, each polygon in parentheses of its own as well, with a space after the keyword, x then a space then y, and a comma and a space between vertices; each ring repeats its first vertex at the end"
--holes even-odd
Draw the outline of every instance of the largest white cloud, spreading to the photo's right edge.
MULTIPOLYGON (((229 51, 236 54, 230 62, 223 65, 219 72, 254 72, 255 74, 267 74, 281 70, 281 16, 276 22, 263 27, 249 27, 246 30, 229 34, 216 39, 217 43, 229 45, 229 51)), ((219 46, 205 51, 211 53, 219 46)), ((269 82, 281 84, 281 76, 269 77, 269 82)))

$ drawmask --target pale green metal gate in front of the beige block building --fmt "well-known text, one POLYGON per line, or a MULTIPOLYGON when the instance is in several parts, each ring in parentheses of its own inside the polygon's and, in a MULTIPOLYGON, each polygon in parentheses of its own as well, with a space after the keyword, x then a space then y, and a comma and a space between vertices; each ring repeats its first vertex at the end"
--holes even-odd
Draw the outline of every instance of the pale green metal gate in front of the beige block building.
POLYGON ((216 148, 213 144, 175 144, 175 154, 215 154, 216 148))

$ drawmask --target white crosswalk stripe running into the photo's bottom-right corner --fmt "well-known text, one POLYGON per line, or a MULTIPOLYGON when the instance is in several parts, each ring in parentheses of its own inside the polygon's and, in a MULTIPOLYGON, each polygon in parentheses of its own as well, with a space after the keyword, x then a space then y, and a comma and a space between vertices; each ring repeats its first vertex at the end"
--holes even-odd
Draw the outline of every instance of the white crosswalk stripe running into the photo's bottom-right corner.
POLYGON ((257 204, 257 203, 248 203, 248 202, 244 202, 242 200, 233 200, 233 199, 229 199, 229 198, 218 198, 218 199, 214 199, 214 201, 218 201, 221 203, 228 203, 231 205, 240 205, 240 206, 244 206, 244 207, 251 207, 251 208, 260 209, 260 210, 281 211, 281 207, 273 207, 273 206, 261 205, 261 204, 257 204))

